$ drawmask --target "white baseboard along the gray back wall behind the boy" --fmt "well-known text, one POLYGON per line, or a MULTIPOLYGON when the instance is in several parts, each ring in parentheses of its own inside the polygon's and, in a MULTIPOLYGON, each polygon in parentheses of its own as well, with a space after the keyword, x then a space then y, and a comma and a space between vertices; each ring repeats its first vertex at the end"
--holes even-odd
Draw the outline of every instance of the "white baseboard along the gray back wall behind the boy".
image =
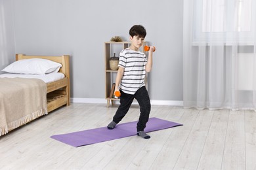
MULTIPOLYGON (((71 103, 106 103, 106 99, 100 98, 70 98, 71 103)), ((183 106, 183 101, 151 100, 151 105, 183 106)), ((133 102, 138 104, 137 101, 133 102)))

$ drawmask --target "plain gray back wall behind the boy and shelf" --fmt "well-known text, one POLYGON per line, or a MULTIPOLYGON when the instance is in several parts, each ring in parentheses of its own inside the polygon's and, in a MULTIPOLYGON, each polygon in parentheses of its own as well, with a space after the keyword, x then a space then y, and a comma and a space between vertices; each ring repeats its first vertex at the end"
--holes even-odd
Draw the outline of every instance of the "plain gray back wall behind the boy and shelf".
POLYGON ((182 101, 183 1, 12 3, 15 53, 70 54, 72 97, 104 98, 104 42, 115 35, 129 41, 130 27, 141 24, 148 33, 146 41, 157 48, 148 78, 150 98, 182 101))

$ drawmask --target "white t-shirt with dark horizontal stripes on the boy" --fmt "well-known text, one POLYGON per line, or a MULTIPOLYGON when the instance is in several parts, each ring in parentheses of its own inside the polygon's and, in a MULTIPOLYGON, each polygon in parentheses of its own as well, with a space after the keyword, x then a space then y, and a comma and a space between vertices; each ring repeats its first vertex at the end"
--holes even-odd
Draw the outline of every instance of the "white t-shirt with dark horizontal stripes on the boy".
POLYGON ((124 93, 135 94, 139 88, 145 86, 146 55, 143 52, 125 48, 119 54, 118 67, 123 67, 124 73, 119 89, 124 93))

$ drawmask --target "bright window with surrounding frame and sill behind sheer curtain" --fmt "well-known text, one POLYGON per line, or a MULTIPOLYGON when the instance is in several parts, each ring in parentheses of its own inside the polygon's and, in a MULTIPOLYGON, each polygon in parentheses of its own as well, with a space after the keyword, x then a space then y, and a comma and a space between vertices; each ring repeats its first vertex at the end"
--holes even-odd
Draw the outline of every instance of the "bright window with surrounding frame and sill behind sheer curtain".
POLYGON ((256 1, 194 0, 192 41, 194 45, 252 45, 256 31, 256 1))

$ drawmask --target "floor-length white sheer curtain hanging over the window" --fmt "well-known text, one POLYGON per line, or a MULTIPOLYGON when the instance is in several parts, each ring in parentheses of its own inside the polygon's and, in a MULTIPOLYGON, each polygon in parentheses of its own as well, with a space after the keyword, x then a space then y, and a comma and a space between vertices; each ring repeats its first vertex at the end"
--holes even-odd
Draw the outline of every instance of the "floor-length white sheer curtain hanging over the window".
POLYGON ((255 7, 255 0, 184 0, 185 108, 256 109, 255 7))

